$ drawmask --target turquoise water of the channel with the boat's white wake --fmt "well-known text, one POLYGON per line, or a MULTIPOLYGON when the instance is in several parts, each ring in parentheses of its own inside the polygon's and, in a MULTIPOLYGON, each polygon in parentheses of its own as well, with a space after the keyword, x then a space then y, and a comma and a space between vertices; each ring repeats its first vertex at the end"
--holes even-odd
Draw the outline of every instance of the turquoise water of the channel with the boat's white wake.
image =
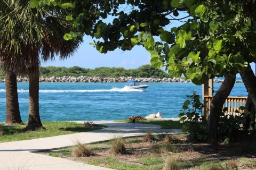
MULTIPOLYGON (((129 91, 126 83, 40 83, 39 110, 42 121, 122 120, 161 112, 177 117, 186 95, 202 86, 193 83, 146 83, 146 91, 129 91)), ((217 91, 221 83, 214 83, 217 91)), ((18 83, 22 121, 28 118, 28 83, 18 83)), ((236 83, 230 96, 247 96, 236 83)), ((0 122, 5 121, 5 84, 0 83, 0 122)))

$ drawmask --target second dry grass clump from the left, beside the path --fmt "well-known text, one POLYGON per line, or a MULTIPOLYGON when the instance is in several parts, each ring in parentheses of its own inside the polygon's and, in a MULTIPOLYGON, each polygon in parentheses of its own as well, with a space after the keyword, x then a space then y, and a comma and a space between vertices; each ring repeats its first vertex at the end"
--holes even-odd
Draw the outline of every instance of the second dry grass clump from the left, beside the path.
POLYGON ((109 150, 111 154, 126 154, 124 138, 113 139, 109 150))

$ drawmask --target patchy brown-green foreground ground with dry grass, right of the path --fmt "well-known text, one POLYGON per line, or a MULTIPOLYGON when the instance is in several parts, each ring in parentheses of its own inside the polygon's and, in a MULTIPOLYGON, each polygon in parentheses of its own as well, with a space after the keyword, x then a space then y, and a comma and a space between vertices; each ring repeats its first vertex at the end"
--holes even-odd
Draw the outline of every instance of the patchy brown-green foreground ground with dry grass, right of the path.
POLYGON ((232 143, 221 144, 218 149, 212 149, 206 143, 188 142, 186 134, 172 135, 169 142, 164 140, 163 134, 154 137, 154 142, 144 142, 143 137, 125 138, 127 152, 123 155, 111 154, 113 141, 88 145, 94 153, 90 157, 74 157, 74 147, 44 151, 40 154, 118 170, 162 170, 168 158, 175 160, 177 169, 256 169, 256 147, 246 149, 244 147, 247 145, 232 143))

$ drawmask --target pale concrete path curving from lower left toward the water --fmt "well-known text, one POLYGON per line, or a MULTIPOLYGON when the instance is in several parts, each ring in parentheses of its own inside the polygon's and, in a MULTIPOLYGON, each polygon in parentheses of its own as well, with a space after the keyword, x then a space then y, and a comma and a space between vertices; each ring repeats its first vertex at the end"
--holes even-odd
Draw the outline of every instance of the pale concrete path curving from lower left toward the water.
MULTIPOLYGON (((78 122, 83 123, 83 122, 78 122)), ((74 162, 67 159, 55 158, 41 154, 35 154, 33 151, 45 149, 57 149, 76 145, 76 141, 82 143, 91 143, 104 140, 110 140, 115 137, 130 137, 143 135, 148 130, 161 133, 180 133, 180 130, 162 130, 158 125, 149 124, 131 124, 115 123, 113 121, 94 121, 94 123, 107 125, 108 128, 82 132, 75 134, 60 135, 56 137, 47 137, 16 142, 0 143, 0 169, 26 170, 26 169, 109 169, 99 166, 92 166, 83 163, 74 162)))

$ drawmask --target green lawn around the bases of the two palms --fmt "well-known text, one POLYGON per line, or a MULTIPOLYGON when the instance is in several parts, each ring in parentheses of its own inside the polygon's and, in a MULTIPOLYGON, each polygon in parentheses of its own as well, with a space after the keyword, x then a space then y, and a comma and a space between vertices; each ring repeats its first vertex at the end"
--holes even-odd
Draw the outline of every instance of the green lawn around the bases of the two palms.
POLYGON ((39 129, 37 131, 23 131, 25 125, 18 126, 4 126, 0 124, 0 142, 10 142, 19 140, 29 140, 44 137, 53 137, 63 134, 71 134, 78 132, 86 132, 97 129, 105 128, 103 126, 91 126, 85 124, 78 124, 75 122, 42 122, 44 129, 39 129))

